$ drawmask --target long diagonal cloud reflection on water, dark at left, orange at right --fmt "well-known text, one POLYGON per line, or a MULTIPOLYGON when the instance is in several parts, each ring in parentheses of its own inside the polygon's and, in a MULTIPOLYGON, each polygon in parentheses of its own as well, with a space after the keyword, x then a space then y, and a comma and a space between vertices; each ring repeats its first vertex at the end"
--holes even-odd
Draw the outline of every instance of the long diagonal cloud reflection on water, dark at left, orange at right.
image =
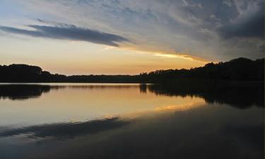
POLYGON ((93 119, 87 122, 64 122, 52 124, 40 124, 23 126, 19 128, 8 127, 0 131, 0 138, 8 136, 20 136, 22 138, 40 139, 56 137, 57 139, 68 139, 87 134, 97 134, 102 131, 117 129, 134 122, 134 119, 141 119, 157 115, 160 112, 186 111, 204 106, 204 100, 193 98, 191 102, 179 103, 178 105, 167 105, 155 107, 150 110, 129 112, 125 114, 106 114, 102 118, 93 119))

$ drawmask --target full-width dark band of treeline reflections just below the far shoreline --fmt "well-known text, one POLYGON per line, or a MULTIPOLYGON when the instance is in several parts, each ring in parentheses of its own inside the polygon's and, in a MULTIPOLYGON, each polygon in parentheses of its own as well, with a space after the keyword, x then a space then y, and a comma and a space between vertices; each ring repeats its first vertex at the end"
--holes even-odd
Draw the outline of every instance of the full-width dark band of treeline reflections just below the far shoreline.
POLYGON ((251 107, 253 105, 264 107, 264 83, 259 83, 254 86, 223 86, 220 84, 202 84, 199 86, 193 85, 182 86, 181 84, 175 86, 165 85, 146 85, 146 84, 131 84, 131 85, 0 85, 0 99, 8 98, 10 100, 27 100, 30 98, 40 98, 42 93, 49 93, 49 91, 62 88, 72 89, 129 89, 139 88, 141 93, 155 93, 155 95, 166 96, 196 96, 204 98, 206 102, 213 103, 218 102, 220 104, 229 104, 234 107, 251 107))

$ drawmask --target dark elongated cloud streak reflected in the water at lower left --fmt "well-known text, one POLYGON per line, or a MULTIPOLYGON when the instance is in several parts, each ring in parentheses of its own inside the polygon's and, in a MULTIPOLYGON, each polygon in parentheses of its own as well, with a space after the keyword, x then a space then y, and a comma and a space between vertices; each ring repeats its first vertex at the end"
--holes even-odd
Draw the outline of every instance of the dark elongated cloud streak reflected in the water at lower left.
POLYGON ((73 138, 85 134, 95 134, 109 129, 115 129, 129 122, 119 120, 119 117, 109 119, 95 119, 88 122, 52 123, 34 126, 25 126, 18 129, 4 129, 0 137, 28 134, 28 137, 57 137, 59 139, 73 138))

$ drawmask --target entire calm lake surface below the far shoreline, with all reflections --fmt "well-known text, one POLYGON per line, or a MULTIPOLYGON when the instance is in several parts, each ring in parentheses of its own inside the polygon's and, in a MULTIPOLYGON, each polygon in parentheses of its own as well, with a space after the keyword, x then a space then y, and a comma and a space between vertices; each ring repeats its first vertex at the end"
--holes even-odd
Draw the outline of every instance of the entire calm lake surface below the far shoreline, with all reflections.
POLYGON ((263 88, 1 84, 0 158, 264 158, 263 88))

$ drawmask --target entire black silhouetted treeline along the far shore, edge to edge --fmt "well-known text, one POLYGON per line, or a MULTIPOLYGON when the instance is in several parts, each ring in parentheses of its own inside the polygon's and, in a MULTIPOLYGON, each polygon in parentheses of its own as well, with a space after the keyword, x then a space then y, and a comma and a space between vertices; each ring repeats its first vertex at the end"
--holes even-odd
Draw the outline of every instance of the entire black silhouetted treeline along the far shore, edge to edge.
POLYGON ((84 82, 84 83, 167 83, 179 79, 223 81, 264 81, 264 59, 232 59, 218 64, 208 63, 193 69, 157 70, 139 75, 65 76, 42 71, 26 64, 0 65, 0 82, 84 82))

